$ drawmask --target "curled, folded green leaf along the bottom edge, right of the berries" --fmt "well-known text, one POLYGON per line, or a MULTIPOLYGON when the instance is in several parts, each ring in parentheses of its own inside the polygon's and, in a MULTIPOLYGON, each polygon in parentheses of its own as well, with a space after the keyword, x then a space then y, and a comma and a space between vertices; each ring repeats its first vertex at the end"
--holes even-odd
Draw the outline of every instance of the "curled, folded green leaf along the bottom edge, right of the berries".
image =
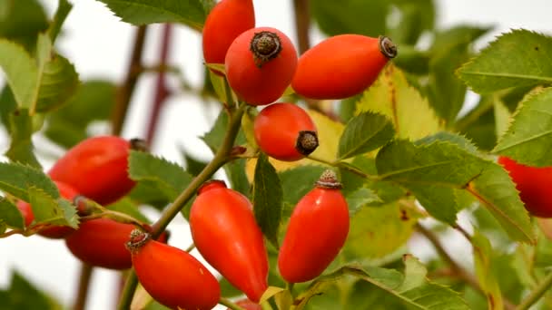
POLYGON ((427 273, 425 266, 417 258, 405 256, 404 260, 404 275, 396 270, 380 267, 344 266, 330 275, 320 276, 299 296, 301 303, 297 305, 297 309, 303 309, 313 296, 323 294, 329 286, 345 281, 345 276, 354 276, 379 287, 409 309, 469 309, 457 292, 428 281, 424 276, 427 273))

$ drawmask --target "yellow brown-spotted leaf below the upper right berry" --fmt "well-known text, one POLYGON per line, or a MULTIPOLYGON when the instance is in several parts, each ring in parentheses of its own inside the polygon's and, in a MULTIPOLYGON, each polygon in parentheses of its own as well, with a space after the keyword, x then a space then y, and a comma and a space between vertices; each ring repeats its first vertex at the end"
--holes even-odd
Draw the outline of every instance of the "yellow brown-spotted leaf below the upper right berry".
POLYGON ((405 74, 389 64, 357 102, 357 114, 379 112, 392 121, 399 138, 412 140, 439 131, 441 125, 429 103, 407 82, 405 74))

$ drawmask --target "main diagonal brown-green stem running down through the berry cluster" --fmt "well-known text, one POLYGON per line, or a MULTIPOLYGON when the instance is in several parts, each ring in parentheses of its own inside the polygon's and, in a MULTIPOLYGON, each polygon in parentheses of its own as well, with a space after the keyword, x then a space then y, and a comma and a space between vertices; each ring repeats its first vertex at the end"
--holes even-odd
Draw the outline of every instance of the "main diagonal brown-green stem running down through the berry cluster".
MULTIPOLYGON (((245 108, 246 104, 242 103, 237 110, 229 109, 230 121, 228 122, 228 128, 226 131, 226 135, 224 136, 221 148, 217 150, 214 158, 209 162, 209 164, 207 164, 207 166, 205 166, 205 168, 203 168, 202 172, 200 172, 200 174, 198 174, 197 177, 192 180, 190 185, 188 185, 188 187, 182 191, 180 196, 174 200, 173 204, 163 211, 161 218, 159 218, 157 222, 153 224, 153 238, 159 237, 159 235, 163 232, 167 225, 169 225, 171 220, 173 220, 173 218, 176 217, 178 213, 180 213, 181 209, 186 205, 186 203, 190 199, 192 199, 192 196, 195 194, 196 190, 199 189, 199 187, 203 184, 203 182, 211 178, 217 170, 221 169, 225 163, 231 160, 232 147, 234 144, 234 140, 238 135, 238 131, 240 131, 240 126, 242 124, 242 115, 245 111, 245 108)), ((136 275, 134 272, 131 272, 123 288, 123 295, 118 306, 119 310, 129 309, 137 285, 138 280, 136 278, 136 275)))

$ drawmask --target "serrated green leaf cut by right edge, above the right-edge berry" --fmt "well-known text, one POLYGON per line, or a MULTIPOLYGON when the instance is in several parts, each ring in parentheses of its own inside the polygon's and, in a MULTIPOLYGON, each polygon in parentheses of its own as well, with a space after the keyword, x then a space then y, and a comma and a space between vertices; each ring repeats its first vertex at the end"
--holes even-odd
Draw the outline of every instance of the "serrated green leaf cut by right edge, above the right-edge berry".
POLYGON ((552 88, 533 93, 521 102, 493 152, 529 166, 552 166, 552 88))

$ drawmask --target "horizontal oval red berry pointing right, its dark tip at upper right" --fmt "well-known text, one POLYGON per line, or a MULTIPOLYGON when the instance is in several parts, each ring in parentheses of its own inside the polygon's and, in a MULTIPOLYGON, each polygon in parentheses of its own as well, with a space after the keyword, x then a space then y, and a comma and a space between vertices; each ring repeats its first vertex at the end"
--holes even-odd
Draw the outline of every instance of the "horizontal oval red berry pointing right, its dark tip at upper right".
POLYGON ((388 37, 332 36, 303 53, 291 87, 312 99, 343 99, 368 88, 397 47, 388 37))

